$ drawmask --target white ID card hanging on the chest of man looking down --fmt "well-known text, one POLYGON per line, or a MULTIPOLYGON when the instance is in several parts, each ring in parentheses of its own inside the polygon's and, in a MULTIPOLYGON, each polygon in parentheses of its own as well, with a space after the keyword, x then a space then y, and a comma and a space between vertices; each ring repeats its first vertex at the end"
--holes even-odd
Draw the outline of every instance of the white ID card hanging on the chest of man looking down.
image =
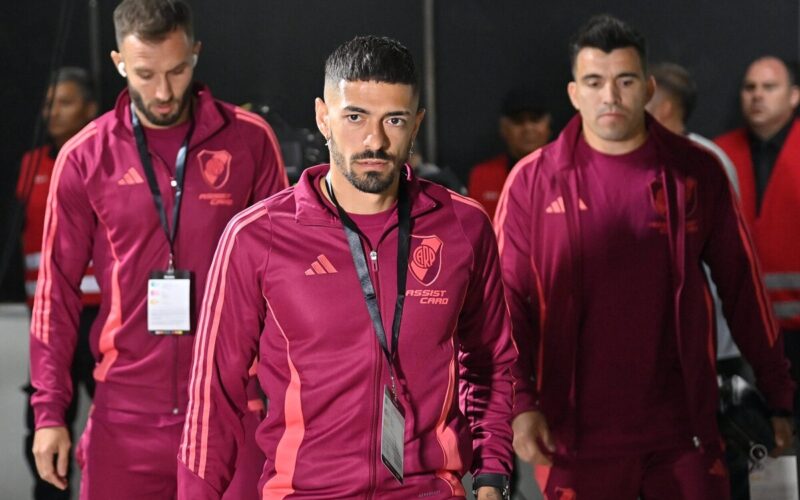
POLYGON ((156 335, 183 335, 191 330, 190 271, 153 271, 147 280, 147 329, 156 335))

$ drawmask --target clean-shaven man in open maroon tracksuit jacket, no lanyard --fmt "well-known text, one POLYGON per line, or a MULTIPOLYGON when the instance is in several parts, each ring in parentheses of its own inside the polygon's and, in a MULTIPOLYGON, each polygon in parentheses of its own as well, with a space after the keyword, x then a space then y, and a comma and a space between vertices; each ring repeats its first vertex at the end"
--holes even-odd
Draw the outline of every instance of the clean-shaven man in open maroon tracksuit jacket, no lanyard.
POLYGON ((719 162, 644 106, 644 38, 609 16, 572 46, 579 114, 524 158, 495 227, 520 349, 517 453, 547 498, 724 499, 714 310, 752 364, 778 450, 792 382, 719 162))

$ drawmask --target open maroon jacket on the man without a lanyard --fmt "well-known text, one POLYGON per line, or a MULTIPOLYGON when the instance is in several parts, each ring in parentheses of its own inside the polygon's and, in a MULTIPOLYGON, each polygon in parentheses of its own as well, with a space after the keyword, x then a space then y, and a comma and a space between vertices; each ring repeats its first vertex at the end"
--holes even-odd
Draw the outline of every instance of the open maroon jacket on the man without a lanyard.
MULTIPOLYGON (((705 149, 668 132, 650 117, 647 127, 656 141, 667 185, 675 186, 674 192, 668 192, 672 210, 667 227, 678 277, 671 285, 676 325, 672 329, 694 434, 687 436, 687 443, 694 437, 710 442, 718 436, 714 310, 701 261, 711 268, 736 343, 752 364, 772 408, 792 408, 793 384, 725 172, 705 149), (687 214, 684 207, 689 204, 693 208, 687 214)), ((581 319, 574 300, 581 289, 575 265, 575 252, 580 251, 576 214, 579 193, 591 197, 592 192, 591 185, 580 183, 573 162, 580 134, 580 116, 576 116, 554 143, 521 160, 506 182, 495 217, 520 351, 514 413, 544 412, 564 452, 580 432, 575 428, 576 411, 591 410, 576 409, 574 385, 581 319), (563 217, 548 213, 554 211, 548 210, 553 200, 560 200, 563 217)))

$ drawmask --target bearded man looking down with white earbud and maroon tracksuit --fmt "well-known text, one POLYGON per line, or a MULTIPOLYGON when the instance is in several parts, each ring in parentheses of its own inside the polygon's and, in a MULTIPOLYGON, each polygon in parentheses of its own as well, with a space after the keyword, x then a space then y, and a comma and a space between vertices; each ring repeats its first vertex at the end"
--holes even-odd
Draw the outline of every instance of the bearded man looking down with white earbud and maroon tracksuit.
MULTIPOLYGON (((269 126, 193 83, 200 43, 186 3, 126 0, 114 26, 111 58, 128 88, 61 149, 47 201, 31 321, 33 453, 41 477, 65 488, 69 366, 91 259, 102 302, 90 337, 94 407, 76 453, 81 498, 172 498, 214 247, 236 212, 287 179, 269 126)), ((263 462, 253 436, 263 403, 256 391, 248 399, 230 498, 256 497, 263 462)))

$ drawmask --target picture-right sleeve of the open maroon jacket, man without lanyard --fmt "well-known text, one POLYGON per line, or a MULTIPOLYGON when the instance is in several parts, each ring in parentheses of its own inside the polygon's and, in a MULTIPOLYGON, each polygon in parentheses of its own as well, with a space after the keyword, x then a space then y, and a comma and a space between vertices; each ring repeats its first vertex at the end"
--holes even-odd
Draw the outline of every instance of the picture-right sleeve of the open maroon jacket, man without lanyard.
POLYGON ((703 259, 722 299, 731 333, 773 410, 792 411, 794 384, 772 317, 750 233, 728 182, 720 181, 703 259))

